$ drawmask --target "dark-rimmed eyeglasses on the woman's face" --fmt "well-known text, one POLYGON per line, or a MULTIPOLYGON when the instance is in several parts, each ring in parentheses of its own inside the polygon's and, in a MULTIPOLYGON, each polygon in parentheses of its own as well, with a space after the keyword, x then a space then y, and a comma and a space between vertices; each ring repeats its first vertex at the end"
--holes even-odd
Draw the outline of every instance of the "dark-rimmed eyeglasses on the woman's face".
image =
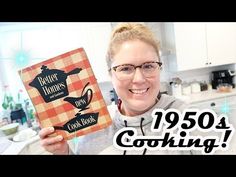
MULTIPOLYGON (((140 68, 142 74, 148 78, 153 77, 157 74, 157 70, 161 69, 162 63, 161 62, 145 62, 141 65, 135 66, 132 64, 123 64, 114 66, 111 69, 115 71, 115 75, 119 80, 129 80, 132 79, 135 73, 136 68, 140 68)), ((110 70, 111 70, 110 69, 110 70)))

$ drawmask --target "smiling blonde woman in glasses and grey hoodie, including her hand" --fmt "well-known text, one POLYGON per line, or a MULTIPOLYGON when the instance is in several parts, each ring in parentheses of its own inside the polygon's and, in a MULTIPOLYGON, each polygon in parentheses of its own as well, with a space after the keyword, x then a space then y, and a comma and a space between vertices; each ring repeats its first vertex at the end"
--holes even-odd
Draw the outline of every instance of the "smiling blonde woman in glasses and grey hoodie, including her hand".
MULTIPOLYGON (((119 97, 118 105, 108 106, 112 126, 79 137, 74 152, 61 136, 48 137, 53 128, 40 131, 42 146, 53 154, 166 154, 180 151, 122 151, 113 146, 115 132, 135 127, 138 135, 158 135, 151 131, 155 108, 186 108, 184 102, 160 95, 158 41, 143 24, 121 23, 112 32, 107 52, 107 65, 112 84, 119 97)), ((184 152, 183 152, 184 153, 184 152)), ((185 151, 185 153, 187 153, 185 151)))

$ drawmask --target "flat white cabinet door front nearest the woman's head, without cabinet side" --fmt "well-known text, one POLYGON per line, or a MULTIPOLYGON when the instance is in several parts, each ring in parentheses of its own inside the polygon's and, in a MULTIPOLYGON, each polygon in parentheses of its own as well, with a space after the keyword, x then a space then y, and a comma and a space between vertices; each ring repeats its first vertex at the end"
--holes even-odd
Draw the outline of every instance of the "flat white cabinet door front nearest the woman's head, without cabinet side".
POLYGON ((206 67, 206 33, 204 23, 175 23, 178 70, 206 67))

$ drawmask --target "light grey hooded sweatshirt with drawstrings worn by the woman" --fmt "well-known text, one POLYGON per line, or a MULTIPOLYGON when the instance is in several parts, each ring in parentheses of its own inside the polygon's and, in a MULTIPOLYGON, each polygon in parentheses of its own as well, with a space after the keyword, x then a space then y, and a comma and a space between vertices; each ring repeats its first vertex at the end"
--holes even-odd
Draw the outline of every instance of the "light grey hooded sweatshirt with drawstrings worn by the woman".
MULTIPOLYGON (((78 137, 78 144, 75 145, 75 149, 72 149, 72 151, 75 154, 123 154, 123 150, 119 150, 113 146, 113 137, 118 130, 126 127, 125 121, 127 121, 128 127, 134 127, 137 130, 138 135, 143 136, 141 129, 143 129, 143 132, 145 134, 144 136, 151 136, 153 134, 158 135, 161 132, 153 133, 151 131, 151 123, 153 120, 153 117, 151 116, 152 111, 155 108, 175 108, 182 111, 186 107, 187 105, 183 101, 168 95, 162 95, 160 100, 149 111, 135 117, 122 115, 116 105, 108 106, 109 113, 113 119, 112 125, 108 128, 78 137), (143 121, 141 121, 142 118, 144 118, 143 121)), ((126 154, 142 153, 142 150, 137 150, 127 151, 126 154)), ((146 154, 190 154, 190 151, 156 150, 147 151, 146 154)))

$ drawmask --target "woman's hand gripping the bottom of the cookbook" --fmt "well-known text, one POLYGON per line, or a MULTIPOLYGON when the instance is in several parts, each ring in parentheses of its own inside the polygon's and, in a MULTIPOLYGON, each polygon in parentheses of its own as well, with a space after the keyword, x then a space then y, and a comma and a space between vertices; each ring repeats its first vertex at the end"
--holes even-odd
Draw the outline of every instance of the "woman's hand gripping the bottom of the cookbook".
POLYGON ((69 154, 69 145, 67 141, 63 140, 61 135, 50 137, 54 132, 53 127, 43 128, 39 132, 40 143, 44 149, 56 155, 69 154))

